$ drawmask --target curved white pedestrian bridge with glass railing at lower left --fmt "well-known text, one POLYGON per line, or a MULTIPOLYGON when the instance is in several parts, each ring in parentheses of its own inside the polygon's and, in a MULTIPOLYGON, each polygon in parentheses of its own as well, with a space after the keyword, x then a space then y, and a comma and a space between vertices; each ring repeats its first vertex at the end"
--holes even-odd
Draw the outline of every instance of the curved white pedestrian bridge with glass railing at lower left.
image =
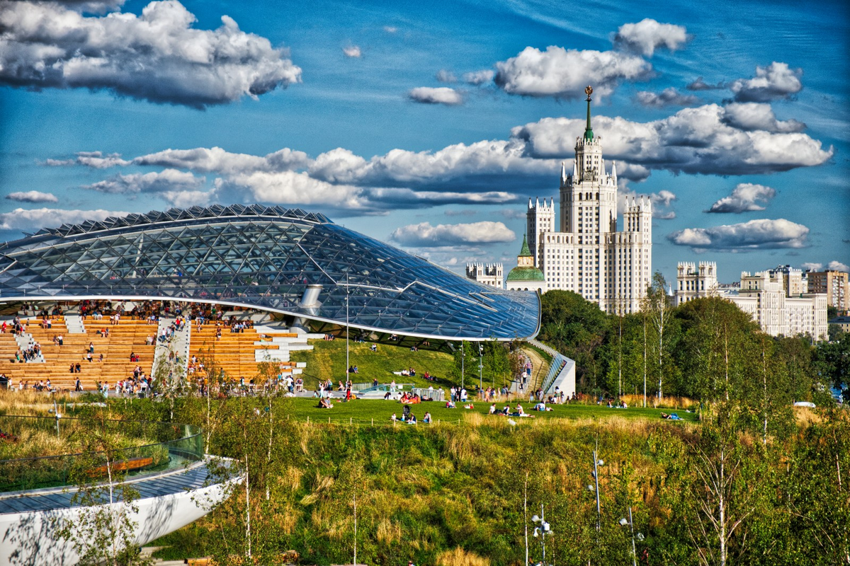
MULTIPOLYGON (((0 426, 14 418, 33 417, 0 417, 0 426)), ((45 422, 54 418, 26 425, 45 422)), ((204 454, 200 429, 143 424, 157 434, 177 429, 178 438, 116 451, 109 462, 96 453, 0 460, 0 566, 76 564, 88 541, 66 541, 58 531, 70 522, 84 532, 94 513, 129 519, 133 546, 143 546, 203 517, 241 481, 229 460, 204 454)))

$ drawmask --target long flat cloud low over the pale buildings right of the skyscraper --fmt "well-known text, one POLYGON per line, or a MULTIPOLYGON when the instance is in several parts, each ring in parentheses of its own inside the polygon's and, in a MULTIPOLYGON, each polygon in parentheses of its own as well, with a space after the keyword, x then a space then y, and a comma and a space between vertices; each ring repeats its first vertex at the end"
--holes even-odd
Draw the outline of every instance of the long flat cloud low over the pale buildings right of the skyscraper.
POLYGON ((710 228, 685 228, 667 236, 673 244, 694 250, 745 251, 748 249, 802 248, 808 227, 784 218, 751 220, 710 228))

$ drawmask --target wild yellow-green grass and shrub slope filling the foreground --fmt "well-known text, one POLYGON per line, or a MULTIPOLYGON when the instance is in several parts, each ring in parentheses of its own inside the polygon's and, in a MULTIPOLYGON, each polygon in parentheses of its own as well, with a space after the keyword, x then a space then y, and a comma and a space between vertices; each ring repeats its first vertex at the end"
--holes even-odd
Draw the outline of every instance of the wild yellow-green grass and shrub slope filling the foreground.
MULTIPOLYGON (((619 524, 629 507, 645 536, 638 558, 646 553, 649 563, 720 563, 722 538, 728 563, 805 563, 807 556, 836 563, 847 549, 846 412, 825 412, 763 445, 748 432, 748 409, 734 400, 706 401, 701 423, 570 405, 510 426, 479 407, 428 407, 462 420, 430 427, 391 426, 385 417, 399 405, 389 401, 340 403, 330 412, 306 399, 213 404, 220 424, 210 451, 235 458, 250 490, 239 485, 184 535, 157 541, 186 549, 171 548, 163 558, 246 563, 250 541, 252 563, 273 563, 287 550, 299 552, 300 563, 348 563, 356 497, 360 563, 438 563, 441 552, 460 547, 494 565, 520 564, 526 494, 529 518, 545 505, 555 531, 547 559, 559 564, 631 563, 630 531, 619 524), (364 424, 371 414, 384 419, 364 424), (332 415, 333 423, 319 415, 332 415), (597 437, 604 459, 599 531, 595 495, 587 490, 597 437), (718 481, 720 463, 725 483, 718 481), (712 523, 721 498, 725 534, 712 523)), ((205 401, 187 400, 175 417, 202 423, 203 410, 193 405, 205 401)), ((531 536, 530 558, 540 558, 531 536)))

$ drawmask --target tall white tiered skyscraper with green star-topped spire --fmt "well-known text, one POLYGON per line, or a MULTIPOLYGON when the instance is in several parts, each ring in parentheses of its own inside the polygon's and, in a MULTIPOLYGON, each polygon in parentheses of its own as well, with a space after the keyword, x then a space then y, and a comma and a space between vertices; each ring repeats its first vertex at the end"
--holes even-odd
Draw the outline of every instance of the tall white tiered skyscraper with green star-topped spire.
POLYGON ((628 199, 617 232, 616 166, 605 171, 591 127, 593 89, 585 92, 587 127, 575 140, 572 173, 561 165, 560 229, 553 199, 529 199, 528 244, 546 289, 575 291, 610 313, 636 312, 652 276, 652 207, 649 198, 628 199))

